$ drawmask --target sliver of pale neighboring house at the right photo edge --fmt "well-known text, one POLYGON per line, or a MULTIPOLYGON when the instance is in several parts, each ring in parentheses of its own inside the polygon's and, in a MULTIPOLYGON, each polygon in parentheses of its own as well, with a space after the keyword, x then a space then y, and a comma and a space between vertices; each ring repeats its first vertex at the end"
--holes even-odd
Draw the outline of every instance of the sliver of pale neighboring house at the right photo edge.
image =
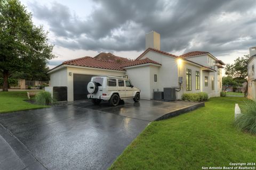
POLYGON ((250 47, 250 58, 247 62, 247 73, 248 73, 248 95, 249 99, 255 99, 256 97, 256 87, 255 87, 255 71, 254 66, 256 65, 256 47, 250 47))

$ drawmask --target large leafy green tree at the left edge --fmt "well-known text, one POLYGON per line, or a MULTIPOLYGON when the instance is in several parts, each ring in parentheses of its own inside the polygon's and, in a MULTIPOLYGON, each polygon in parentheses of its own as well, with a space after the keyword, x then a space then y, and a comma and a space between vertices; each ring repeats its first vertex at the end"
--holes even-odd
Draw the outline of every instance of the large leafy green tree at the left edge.
POLYGON ((3 91, 8 91, 8 78, 14 72, 29 72, 54 57, 47 32, 36 27, 31 13, 18 0, 0 1, 0 71, 3 91))

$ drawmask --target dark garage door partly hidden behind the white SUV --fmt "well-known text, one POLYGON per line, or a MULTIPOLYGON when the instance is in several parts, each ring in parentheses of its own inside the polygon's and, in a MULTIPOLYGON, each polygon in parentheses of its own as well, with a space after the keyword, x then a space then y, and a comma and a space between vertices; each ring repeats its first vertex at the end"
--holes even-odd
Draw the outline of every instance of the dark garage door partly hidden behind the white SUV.
POLYGON ((87 84, 91 81, 92 75, 74 74, 74 100, 87 99, 87 84))

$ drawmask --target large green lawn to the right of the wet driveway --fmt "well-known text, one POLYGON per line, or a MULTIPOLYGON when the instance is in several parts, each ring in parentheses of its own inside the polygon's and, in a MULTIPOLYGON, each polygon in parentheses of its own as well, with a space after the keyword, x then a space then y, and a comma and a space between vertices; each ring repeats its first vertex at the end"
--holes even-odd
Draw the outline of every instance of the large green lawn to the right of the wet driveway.
POLYGON ((242 97, 211 98, 205 107, 150 123, 110 169, 202 169, 255 162, 256 135, 234 126, 242 97))

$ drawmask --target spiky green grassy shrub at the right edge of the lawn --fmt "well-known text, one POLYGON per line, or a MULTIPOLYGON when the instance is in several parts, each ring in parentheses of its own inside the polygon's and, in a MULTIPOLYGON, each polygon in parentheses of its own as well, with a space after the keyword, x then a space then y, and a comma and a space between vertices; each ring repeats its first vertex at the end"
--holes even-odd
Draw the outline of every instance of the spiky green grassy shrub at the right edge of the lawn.
POLYGON ((239 130, 256 134, 256 101, 245 101, 242 114, 235 118, 234 123, 239 130))

